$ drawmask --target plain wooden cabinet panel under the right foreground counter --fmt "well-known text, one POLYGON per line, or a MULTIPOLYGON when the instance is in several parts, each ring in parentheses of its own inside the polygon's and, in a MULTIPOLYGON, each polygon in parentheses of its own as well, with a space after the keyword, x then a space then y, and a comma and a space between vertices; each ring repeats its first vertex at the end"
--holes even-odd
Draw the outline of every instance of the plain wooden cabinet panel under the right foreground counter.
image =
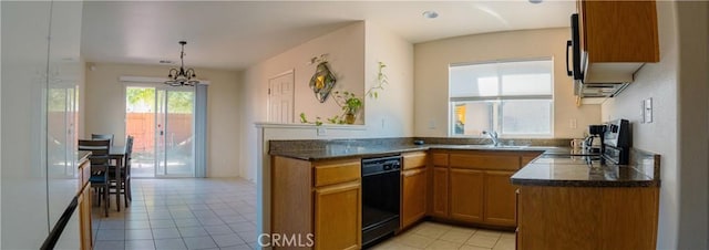
POLYGON ((520 186, 517 249, 655 249, 658 187, 520 186), (548 233, 553 231, 564 233, 548 233))

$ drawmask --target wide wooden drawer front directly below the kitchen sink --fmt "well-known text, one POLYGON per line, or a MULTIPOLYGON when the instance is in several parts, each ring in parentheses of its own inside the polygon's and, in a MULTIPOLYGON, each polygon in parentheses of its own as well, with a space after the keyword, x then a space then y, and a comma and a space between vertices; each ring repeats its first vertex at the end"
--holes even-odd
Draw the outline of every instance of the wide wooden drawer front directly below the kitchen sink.
POLYGON ((517 170, 520 169, 520 156, 512 155, 463 155, 451 154, 451 167, 517 170))

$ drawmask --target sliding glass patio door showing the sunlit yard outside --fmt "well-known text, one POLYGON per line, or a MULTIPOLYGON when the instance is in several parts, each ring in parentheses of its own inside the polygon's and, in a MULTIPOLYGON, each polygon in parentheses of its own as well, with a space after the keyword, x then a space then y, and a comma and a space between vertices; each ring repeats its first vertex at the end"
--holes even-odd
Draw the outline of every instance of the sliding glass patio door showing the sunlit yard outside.
POLYGON ((126 135, 134 177, 195 176, 194 87, 126 86, 126 135))

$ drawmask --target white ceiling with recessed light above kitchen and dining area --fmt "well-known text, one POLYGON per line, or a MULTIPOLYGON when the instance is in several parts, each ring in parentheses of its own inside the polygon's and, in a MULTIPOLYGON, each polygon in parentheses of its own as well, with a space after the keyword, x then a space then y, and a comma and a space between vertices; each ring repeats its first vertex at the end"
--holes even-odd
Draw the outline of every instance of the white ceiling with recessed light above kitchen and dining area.
POLYGON ((85 1, 88 62, 179 63, 242 70, 360 20, 411 43, 508 30, 568 27, 575 1, 85 1), (422 13, 432 10, 436 19, 422 13))

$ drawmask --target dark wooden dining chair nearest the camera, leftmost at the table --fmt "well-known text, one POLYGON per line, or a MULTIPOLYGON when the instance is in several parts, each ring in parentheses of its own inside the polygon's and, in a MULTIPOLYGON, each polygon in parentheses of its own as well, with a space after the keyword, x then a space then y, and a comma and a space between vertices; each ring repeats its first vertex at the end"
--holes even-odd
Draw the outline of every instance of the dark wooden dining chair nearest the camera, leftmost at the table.
POLYGON ((89 181, 96 194, 97 206, 101 206, 101 198, 104 200, 105 216, 109 217, 109 168, 110 168, 110 139, 80 139, 79 150, 91 152, 91 177, 89 181))

